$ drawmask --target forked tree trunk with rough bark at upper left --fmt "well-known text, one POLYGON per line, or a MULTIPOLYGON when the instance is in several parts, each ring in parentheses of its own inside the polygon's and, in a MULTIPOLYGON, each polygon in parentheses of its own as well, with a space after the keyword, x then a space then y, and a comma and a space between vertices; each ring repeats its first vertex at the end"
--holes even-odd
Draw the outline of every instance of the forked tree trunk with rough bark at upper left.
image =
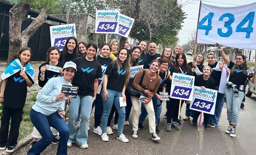
POLYGON ((42 9, 40 14, 33 19, 28 28, 21 32, 21 26, 24 18, 29 11, 28 3, 15 4, 9 11, 9 54, 7 64, 16 59, 17 52, 28 45, 31 36, 42 26, 48 17, 49 10, 42 9))

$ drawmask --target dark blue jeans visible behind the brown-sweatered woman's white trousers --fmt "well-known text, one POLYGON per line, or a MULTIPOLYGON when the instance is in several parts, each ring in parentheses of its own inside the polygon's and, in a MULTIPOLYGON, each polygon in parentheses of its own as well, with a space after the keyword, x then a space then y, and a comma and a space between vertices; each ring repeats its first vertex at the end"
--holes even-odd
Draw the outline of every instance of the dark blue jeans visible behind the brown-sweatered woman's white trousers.
MULTIPOLYGON (((152 98, 152 102, 153 102, 153 107, 154 107, 154 111, 155 111, 156 125, 157 125, 159 123, 159 118, 160 118, 161 111, 162 111, 162 102, 161 102, 161 100, 157 99, 156 96, 154 96, 152 98)), ((143 124, 146 117, 147 117, 147 110, 144 107, 144 105, 142 104, 139 122, 141 124, 143 124)))

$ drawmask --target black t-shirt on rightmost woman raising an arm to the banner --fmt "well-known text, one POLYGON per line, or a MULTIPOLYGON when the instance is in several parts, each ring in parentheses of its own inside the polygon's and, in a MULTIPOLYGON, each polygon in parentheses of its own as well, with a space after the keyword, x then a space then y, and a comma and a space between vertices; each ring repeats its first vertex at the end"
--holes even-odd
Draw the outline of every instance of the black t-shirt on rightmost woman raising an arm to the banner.
MULTIPOLYGON (((235 65, 234 62, 229 62, 229 69, 235 65)), ((230 74, 228 81, 236 84, 236 85, 244 85, 246 84, 247 75, 244 74, 242 67, 239 66, 239 69, 234 69, 234 74, 230 74)))

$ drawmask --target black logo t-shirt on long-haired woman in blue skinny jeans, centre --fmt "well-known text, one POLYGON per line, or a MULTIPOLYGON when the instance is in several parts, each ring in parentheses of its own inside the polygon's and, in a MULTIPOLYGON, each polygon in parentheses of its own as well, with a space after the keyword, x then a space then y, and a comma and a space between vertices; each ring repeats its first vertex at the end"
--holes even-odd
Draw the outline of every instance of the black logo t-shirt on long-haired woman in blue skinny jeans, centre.
POLYGON ((125 73, 124 64, 122 64, 120 71, 118 71, 116 62, 109 64, 105 72, 105 74, 109 76, 107 80, 107 89, 122 91, 126 80, 125 73))

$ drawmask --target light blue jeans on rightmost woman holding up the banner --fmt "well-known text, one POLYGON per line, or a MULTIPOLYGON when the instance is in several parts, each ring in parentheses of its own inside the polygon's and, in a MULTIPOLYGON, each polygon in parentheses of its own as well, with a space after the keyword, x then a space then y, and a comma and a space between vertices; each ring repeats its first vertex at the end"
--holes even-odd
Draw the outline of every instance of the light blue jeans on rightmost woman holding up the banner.
POLYGON ((225 95, 227 100, 228 121, 232 121, 232 124, 238 124, 240 105, 244 99, 244 92, 238 91, 238 96, 235 96, 233 88, 226 88, 225 95))

